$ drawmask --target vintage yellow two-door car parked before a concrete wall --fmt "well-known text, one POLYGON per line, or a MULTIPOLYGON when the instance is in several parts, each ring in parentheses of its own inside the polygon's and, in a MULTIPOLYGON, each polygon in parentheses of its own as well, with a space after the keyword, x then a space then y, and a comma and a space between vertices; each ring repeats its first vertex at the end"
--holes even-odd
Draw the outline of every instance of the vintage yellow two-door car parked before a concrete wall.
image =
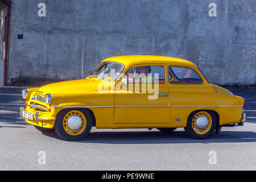
POLYGON ((81 140, 97 129, 184 127, 193 139, 222 126, 243 126, 244 99, 210 84, 190 61, 166 56, 115 56, 92 75, 22 90, 20 116, 43 132, 81 140))

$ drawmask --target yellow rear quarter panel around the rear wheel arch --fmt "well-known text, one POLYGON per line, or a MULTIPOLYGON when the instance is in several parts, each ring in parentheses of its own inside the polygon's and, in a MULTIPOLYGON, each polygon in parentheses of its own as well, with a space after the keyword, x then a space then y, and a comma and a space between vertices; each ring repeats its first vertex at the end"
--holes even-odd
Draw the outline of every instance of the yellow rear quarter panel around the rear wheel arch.
POLYGON ((171 88, 170 127, 187 126, 187 118, 195 110, 213 110, 220 125, 237 123, 242 117, 243 98, 217 94, 207 85, 174 85, 171 88), (182 121, 178 122, 177 118, 182 121))

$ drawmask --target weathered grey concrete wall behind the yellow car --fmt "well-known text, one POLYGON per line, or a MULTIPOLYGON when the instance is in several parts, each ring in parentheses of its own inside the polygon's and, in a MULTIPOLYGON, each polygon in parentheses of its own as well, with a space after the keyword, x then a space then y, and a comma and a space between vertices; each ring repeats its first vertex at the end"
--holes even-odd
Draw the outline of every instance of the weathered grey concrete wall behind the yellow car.
POLYGON ((255 0, 13 0, 8 83, 88 75, 106 57, 163 55, 210 82, 256 84, 255 0), (38 4, 46 3, 46 17, 38 4), (210 17, 209 3, 217 16, 210 17), (23 34, 23 39, 17 39, 23 34))

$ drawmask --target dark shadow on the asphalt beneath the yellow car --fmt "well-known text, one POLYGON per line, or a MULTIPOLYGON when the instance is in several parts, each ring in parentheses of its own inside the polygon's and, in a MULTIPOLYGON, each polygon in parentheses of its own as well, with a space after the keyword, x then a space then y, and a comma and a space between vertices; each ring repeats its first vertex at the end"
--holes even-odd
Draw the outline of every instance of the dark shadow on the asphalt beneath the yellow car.
MULTIPOLYGON (((57 133, 42 133, 48 137, 62 140, 57 133)), ((253 131, 222 131, 209 139, 191 139, 184 131, 164 133, 160 131, 113 131, 92 132, 79 143, 109 143, 109 144, 164 144, 164 143, 237 143, 256 142, 256 132, 253 131)))

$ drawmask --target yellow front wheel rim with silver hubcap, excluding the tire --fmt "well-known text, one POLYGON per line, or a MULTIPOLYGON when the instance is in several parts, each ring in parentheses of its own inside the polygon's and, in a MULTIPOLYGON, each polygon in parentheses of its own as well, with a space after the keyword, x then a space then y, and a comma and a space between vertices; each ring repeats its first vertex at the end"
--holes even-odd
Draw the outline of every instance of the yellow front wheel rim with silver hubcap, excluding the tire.
POLYGON ((85 127, 85 115, 79 110, 69 111, 63 118, 63 128, 69 135, 79 135, 85 127))

